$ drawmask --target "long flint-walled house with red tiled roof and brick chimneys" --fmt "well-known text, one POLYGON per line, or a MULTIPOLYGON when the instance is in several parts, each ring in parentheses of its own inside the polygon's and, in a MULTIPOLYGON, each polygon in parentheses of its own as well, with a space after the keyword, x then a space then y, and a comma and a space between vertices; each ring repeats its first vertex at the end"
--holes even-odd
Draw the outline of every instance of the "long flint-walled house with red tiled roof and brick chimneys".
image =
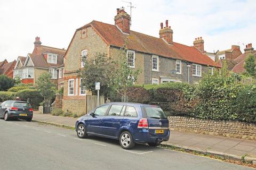
POLYGON ((130 30, 130 20, 124 8, 118 8, 115 24, 93 20, 75 31, 65 54, 63 109, 81 112, 86 107, 85 96, 91 95, 80 86, 76 73, 83 67, 82 56, 90 60, 96 53, 106 53, 116 58, 125 43, 129 66, 142 69, 138 84, 196 83, 203 73, 213 71, 214 61, 198 49, 203 46, 200 40, 192 47, 175 43, 167 20, 165 27, 161 23, 159 37, 152 37, 130 30))

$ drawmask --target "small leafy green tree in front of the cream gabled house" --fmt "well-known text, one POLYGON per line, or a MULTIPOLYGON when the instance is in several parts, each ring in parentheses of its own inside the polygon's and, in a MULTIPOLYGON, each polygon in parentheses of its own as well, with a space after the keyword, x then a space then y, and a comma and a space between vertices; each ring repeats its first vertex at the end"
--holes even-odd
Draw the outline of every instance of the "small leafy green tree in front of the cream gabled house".
POLYGON ((51 100, 55 96, 56 86, 51 81, 50 73, 43 73, 36 81, 39 93, 43 96, 44 102, 51 100))

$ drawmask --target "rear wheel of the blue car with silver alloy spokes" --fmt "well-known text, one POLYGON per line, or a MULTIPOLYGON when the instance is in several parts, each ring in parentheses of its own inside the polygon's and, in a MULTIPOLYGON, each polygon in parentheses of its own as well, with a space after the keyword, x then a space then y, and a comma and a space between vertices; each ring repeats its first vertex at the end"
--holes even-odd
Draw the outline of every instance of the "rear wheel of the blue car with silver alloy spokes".
POLYGON ((124 149, 132 149, 135 146, 132 134, 128 131, 124 131, 123 133, 121 133, 119 137, 119 143, 124 149))

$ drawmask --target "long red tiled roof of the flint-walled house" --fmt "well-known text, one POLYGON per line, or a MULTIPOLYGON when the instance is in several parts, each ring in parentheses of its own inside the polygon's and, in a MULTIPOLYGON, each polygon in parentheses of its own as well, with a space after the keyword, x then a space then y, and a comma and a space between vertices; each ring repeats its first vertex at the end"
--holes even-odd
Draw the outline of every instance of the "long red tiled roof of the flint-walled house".
POLYGON ((100 36, 111 46, 123 47, 126 43, 128 49, 136 50, 148 54, 156 54, 163 57, 185 60, 192 63, 217 66, 205 54, 199 52, 195 47, 182 45, 179 43, 167 44, 162 38, 156 38, 145 35, 143 33, 130 31, 130 35, 126 35, 119 31, 115 25, 92 21, 84 27, 92 27, 100 34, 100 36))

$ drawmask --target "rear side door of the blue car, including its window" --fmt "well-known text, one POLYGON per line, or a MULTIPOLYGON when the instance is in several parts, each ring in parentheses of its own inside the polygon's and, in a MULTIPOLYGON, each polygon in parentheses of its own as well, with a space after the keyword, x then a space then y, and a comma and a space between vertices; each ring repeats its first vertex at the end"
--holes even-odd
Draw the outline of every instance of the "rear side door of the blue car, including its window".
POLYGON ((125 105, 111 105, 102 122, 102 134, 117 137, 122 126, 125 105))

